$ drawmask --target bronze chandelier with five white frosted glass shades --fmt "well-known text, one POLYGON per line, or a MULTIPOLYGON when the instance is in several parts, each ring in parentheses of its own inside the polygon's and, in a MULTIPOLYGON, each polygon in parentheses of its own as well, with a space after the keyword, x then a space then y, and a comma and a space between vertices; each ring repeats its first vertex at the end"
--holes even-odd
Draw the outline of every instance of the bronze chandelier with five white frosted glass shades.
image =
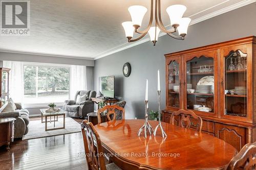
POLYGON ((125 32, 125 36, 128 39, 128 42, 134 42, 140 40, 144 37, 147 33, 150 35, 150 39, 155 45, 158 40, 158 35, 160 31, 166 33, 170 37, 175 39, 184 40, 185 35, 187 34, 187 28, 191 21, 190 18, 183 18, 183 14, 186 11, 186 7, 184 5, 172 5, 166 8, 166 12, 170 18, 170 26, 173 29, 166 30, 162 19, 161 19, 161 2, 160 0, 155 0, 155 24, 153 24, 153 7, 154 0, 151 0, 151 12, 150 12, 150 22, 145 30, 140 31, 138 30, 141 26, 142 19, 147 12, 147 8, 140 5, 134 5, 128 8, 128 11, 132 17, 132 21, 122 22, 122 26, 125 32), (138 38, 132 39, 133 34, 138 33, 141 34, 138 38), (173 33, 178 32, 179 35, 176 36, 173 33))

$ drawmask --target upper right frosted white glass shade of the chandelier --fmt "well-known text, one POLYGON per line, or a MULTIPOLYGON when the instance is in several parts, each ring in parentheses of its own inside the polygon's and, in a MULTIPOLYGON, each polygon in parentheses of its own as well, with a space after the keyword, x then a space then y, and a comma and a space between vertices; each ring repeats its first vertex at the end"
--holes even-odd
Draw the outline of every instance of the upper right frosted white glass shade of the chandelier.
POLYGON ((179 25, 180 19, 182 18, 186 9, 187 8, 184 5, 172 5, 166 8, 166 12, 170 17, 170 25, 172 27, 174 25, 179 25))

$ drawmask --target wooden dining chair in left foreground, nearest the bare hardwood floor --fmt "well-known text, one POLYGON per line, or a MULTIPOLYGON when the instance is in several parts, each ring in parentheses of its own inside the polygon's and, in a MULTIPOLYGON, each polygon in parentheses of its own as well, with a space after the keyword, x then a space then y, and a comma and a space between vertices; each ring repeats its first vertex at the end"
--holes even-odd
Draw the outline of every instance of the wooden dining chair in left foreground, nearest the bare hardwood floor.
POLYGON ((121 170, 115 163, 105 165, 100 137, 91 122, 83 120, 81 132, 89 170, 121 170))

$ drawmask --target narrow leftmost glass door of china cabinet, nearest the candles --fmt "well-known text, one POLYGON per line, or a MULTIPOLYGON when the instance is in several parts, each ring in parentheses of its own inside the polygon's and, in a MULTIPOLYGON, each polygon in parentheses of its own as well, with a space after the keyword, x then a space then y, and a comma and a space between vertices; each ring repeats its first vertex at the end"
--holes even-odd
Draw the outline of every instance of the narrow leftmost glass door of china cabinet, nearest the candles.
POLYGON ((180 58, 172 58, 167 61, 167 106, 180 108, 180 58))

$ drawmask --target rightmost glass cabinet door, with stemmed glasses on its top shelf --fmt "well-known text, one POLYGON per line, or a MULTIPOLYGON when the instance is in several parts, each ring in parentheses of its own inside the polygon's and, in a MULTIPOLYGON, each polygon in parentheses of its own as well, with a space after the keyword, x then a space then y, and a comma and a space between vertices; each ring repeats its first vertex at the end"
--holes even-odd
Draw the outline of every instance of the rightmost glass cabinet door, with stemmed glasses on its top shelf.
POLYGON ((224 114, 247 117, 247 54, 230 51, 224 57, 224 114))

